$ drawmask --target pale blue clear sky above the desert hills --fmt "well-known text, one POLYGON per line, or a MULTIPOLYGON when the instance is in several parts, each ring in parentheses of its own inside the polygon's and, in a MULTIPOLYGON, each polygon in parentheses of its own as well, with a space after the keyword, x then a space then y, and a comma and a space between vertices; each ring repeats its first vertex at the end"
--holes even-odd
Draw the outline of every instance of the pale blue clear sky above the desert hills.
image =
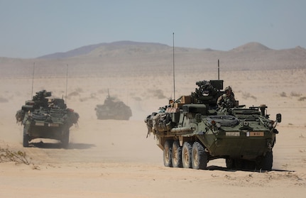
POLYGON ((0 57, 119 40, 231 50, 306 48, 305 0, 0 0, 0 57))

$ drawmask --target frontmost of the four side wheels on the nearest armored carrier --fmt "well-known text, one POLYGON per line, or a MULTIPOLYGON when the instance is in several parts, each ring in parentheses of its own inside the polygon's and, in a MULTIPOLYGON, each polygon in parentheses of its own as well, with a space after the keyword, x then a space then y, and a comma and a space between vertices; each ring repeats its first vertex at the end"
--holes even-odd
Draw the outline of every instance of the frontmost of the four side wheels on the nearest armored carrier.
POLYGON ((191 159, 193 169, 207 168, 207 154, 204 152, 204 147, 199 142, 195 142, 192 145, 191 159))

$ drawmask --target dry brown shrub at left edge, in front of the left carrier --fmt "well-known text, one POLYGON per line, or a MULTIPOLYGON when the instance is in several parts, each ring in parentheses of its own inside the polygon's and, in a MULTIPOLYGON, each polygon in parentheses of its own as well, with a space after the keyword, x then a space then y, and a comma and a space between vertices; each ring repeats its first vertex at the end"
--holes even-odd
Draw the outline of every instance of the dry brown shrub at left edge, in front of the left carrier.
POLYGON ((22 152, 21 150, 16 152, 9 150, 9 148, 0 148, 0 163, 4 162, 24 163, 30 165, 26 152, 22 152))

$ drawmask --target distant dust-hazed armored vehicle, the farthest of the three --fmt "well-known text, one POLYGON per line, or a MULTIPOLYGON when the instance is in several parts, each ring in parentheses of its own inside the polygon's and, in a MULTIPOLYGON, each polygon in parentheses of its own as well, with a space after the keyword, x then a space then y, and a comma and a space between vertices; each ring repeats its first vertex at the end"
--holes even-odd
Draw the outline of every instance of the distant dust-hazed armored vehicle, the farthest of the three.
POLYGON ((119 101, 115 97, 110 97, 109 94, 104 100, 104 104, 97 104, 94 110, 99 120, 129 120, 132 116, 129 106, 126 106, 123 101, 119 101))

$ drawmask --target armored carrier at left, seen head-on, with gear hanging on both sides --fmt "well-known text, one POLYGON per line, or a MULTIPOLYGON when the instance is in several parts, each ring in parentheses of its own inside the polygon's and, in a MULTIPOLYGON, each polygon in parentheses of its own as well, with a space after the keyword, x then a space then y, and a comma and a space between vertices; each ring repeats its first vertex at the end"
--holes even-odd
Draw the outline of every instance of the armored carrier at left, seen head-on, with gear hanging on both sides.
POLYGON ((69 144, 70 127, 77 124, 79 114, 67 108, 64 99, 50 98, 51 92, 36 92, 16 113, 23 125, 23 147, 35 138, 55 139, 63 148, 69 144))

